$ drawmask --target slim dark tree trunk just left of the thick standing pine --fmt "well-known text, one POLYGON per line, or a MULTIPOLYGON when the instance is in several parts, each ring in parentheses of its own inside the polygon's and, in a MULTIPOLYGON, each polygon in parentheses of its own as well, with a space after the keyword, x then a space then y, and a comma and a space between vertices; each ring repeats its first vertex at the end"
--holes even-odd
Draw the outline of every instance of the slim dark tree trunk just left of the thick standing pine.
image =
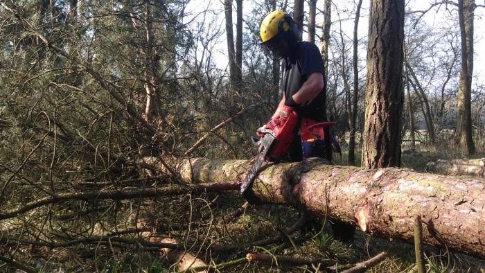
MULTIPOLYGON (((362 0, 357 4, 355 21, 353 24, 353 111, 349 116, 349 165, 355 166, 355 123, 357 123, 358 94, 359 94, 359 69, 358 69, 358 46, 357 30, 359 27, 360 7, 362 0)), ((349 113, 350 114, 350 113, 349 113)))

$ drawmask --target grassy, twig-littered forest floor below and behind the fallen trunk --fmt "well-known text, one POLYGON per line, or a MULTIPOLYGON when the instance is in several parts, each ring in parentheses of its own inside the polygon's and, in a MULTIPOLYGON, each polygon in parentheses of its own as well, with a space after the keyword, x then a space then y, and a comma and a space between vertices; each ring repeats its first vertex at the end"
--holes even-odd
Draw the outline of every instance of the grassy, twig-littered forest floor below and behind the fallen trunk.
MULTIPOLYGON (((483 146, 482 146, 483 147, 483 146)), ((346 147, 342 147, 346 151, 346 147)), ((360 151, 358 151, 360 152, 360 151)), ((478 157, 485 157, 485 151, 478 157)), ((347 153, 343 152, 342 157, 335 155, 335 165, 346 165, 347 153)), ((416 146, 414 150, 408 147, 403 148, 402 167, 425 172, 425 164, 428 161, 437 159, 464 158, 460 150, 441 146, 416 146)), ((360 154, 356 155, 360 159, 360 154)), ((360 164, 360 162, 358 162, 360 164)), ((288 206, 278 205, 254 205, 246 206, 243 214, 234 217, 237 211, 245 204, 245 200, 234 194, 190 194, 179 197, 161 197, 149 200, 132 200, 113 203, 106 203, 103 209, 100 206, 99 213, 85 211, 96 215, 92 221, 99 221, 89 228, 89 234, 106 234, 106 231, 114 232, 121 226, 113 225, 113 220, 121 222, 125 219, 125 230, 133 229, 130 226, 134 221, 135 208, 139 208, 136 217, 145 215, 145 219, 152 221, 152 225, 165 237, 178 238, 179 242, 186 246, 192 253, 197 253, 206 263, 211 265, 223 265, 230 261, 245 258, 245 252, 232 250, 218 252, 218 247, 249 245, 257 241, 272 238, 281 234, 281 229, 288 230, 299 218, 299 213, 288 206), (147 209, 148 208, 148 209, 147 209), (148 214, 146 214, 148 213, 148 214), (165 231, 162 231, 165 230, 165 231), (92 232, 91 232, 92 231, 92 232)), ((91 218, 82 215, 79 219, 87 218, 87 224, 91 218)), ((58 231, 65 234, 73 234, 71 231, 62 229, 76 229, 80 222, 78 220, 67 220, 52 223, 51 231, 40 232, 46 234, 42 240, 60 241, 62 236, 58 231), (62 229, 56 228, 56 224, 62 225, 62 229), (50 233, 50 235, 48 235, 50 233), (52 236, 58 236, 53 238, 52 236)), ((135 220, 136 222, 136 220, 135 220)), ((1 224, 1 223, 0 223, 1 224)), ((40 223, 45 224, 45 223, 40 223)), ((272 243, 263 247, 250 247, 251 251, 260 254, 280 255, 299 258, 319 258, 331 261, 338 265, 355 264, 367 261, 381 252, 388 252, 389 256, 367 272, 394 273, 394 272, 415 272, 414 246, 408 243, 401 243, 386 238, 376 238, 357 229, 354 240, 342 243, 333 238, 333 231, 326 220, 320 221, 319 229, 307 229, 307 233, 313 235, 304 243, 296 243, 283 247, 281 251, 274 252, 272 249, 281 247, 280 243, 272 243)), ((44 226, 43 226, 44 227, 44 226)), ((40 228, 39 228, 40 230, 40 228)), ((13 233, 13 231, 12 231, 13 233)), ((300 229, 292 238, 296 240, 305 233, 300 229)), ((80 235, 72 235, 67 238, 72 240, 80 235)), ((84 236, 84 235, 83 235, 84 236)), ((42 237, 42 236, 40 236, 42 237)), ((39 236, 37 235, 37 238, 39 236)), ((66 247, 31 246, 19 247, 15 253, 25 265, 35 268, 33 272, 177 272, 173 263, 161 255, 159 248, 147 247, 136 243, 138 234, 136 231, 128 232, 118 238, 130 239, 135 243, 123 243, 121 239, 116 241, 99 241, 98 243, 78 243, 66 247)), ((284 240, 283 240, 284 241, 284 240)), ((287 240, 287 243, 290 244, 287 240)), ((284 244, 284 243, 283 243, 284 244)), ((0 245, 1 247, 1 245, 0 245)), ((6 247, 1 247, 2 252, 6 247)), ((484 272, 485 260, 472 258, 464 254, 448 253, 443 249, 425 247, 425 260, 427 272, 484 272)), ((13 251, 13 250, 12 250, 13 251)), ((6 252, 5 252, 6 253, 6 252)), ((3 254, 5 256, 6 254, 3 254)), ((281 265, 277 263, 252 262, 242 263, 228 269, 214 270, 214 272, 315 272, 315 268, 308 265, 281 265)), ((8 263, 0 263, 0 272, 22 272, 8 263)), ((320 271, 321 272, 321 271, 320 271)))

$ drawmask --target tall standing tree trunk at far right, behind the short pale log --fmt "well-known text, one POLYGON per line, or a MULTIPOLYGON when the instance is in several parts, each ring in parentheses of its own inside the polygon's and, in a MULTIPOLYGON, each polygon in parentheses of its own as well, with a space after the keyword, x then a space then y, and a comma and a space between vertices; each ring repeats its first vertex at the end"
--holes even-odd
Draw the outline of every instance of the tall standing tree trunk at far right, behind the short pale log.
POLYGON ((457 104, 457 142, 465 134, 468 155, 475 155, 471 114, 471 90, 473 76, 473 16, 474 0, 458 1, 458 19, 461 33, 461 71, 457 104))

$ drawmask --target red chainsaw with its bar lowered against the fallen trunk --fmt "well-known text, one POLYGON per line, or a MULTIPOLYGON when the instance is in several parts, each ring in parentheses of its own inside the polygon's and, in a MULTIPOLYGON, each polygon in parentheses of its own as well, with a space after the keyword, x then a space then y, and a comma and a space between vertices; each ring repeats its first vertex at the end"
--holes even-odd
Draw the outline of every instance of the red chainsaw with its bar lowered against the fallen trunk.
POLYGON ((239 195, 248 199, 248 192, 252 188, 254 178, 261 168, 263 161, 279 162, 290 148, 293 141, 293 129, 297 124, 298 114, 294 110, 288 112, 285 118, 275 118, 265 126, 258 128, 260 138, 252 136, 254 144, 258 145, 258 157, 253 166, 249 168, 246 177, 239 189, 239 195))

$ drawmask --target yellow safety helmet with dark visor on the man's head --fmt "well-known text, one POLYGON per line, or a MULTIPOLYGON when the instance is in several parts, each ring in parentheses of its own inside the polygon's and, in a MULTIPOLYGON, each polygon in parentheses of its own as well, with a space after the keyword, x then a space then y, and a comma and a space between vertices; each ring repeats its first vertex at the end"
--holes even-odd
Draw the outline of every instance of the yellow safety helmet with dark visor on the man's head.
POLYGON ((265 17, 259 28, 265 53, 273 60, 285 58, 301 40, 301 31, 297 22, 286 12, 275 10, 265 17))

